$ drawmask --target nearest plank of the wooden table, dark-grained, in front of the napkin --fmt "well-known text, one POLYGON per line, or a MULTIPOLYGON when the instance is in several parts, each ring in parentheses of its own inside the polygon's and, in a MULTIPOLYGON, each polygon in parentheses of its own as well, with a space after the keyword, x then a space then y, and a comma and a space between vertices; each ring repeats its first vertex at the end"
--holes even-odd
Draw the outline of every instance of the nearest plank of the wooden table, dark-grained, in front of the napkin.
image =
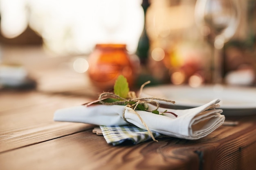
POLYGON ((236 118, 199 140, 174 137, 111 146, 91 130, 0 153, 2 169, 252 169, 256 116, 236 118))

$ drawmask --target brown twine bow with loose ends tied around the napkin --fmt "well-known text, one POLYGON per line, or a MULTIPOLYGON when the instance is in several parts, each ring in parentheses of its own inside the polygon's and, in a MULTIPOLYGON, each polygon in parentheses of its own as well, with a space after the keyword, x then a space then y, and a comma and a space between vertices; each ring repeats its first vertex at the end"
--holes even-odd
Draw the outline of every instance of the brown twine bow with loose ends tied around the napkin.
MULTIPOLYGON (((150 81, 144 83, 143 85, 141 85, 141 88, 140 88, 140 92, 139 92, 139 96, 141 95, 141 92, 142 92, 142 89, 145 85, 147 85, 148 83, 150 83, 150 81)), ((141 123, 146 127, 150 137, 158 142, 155 137, 153 136, 152 132, 150 131, 150 129, 148 128, 146 122, 144 122, 144 120, 141 118, 141 116, 139 115, 139 113, 137 113, 135 111, 135 109, 137 108, 137 106, 139 104, 141 105, 144 105, 144 104, 153 104, 155 105, 155 109, 154 110, 157 110, 159 108, 159 102, 157 102, 156 100, 159 100, 159 101, 165 101, 165 102, 169 102, 169 103, 172 103, 174 104, 175 101, 172 101, 172 100, 166 100, 166 99, 162 99, 162 98, 155 98, 155 97, 143 97, 143 98, 137 98, 135 92, 129 92, 128 93, 128 96, 129 98, 126 99, 126 98, 122 98, 116 94, 113 94, 113 93, 109 93, 109 92, 104 92, 102 94, 100 94, 99 96, 99 99, 98 101, 103 104, 103 105, 126 105, 124 107, 124 112, 123 112, 123 119, 128 122, 125 118, 125 111, 128 110, 130 113, 134 113, 136 114, 136 116, 139 118, 139 120, 141 121, 141 123), (104 99, 108 98, 108 97, 112 97, 112 98, 116 98, 116 99, 119 99, 118 101, 115 101, 115 102, 104 102, 104 99), (129 102, 135 102, 135 104, 127 104, 129 102)), ((148 112, 152 112, 153 110, 148 110, 148 109, 145 109, 145 111, 148 111, 148 112)), ((128 124, 130 124, 130 122, 128 122, 128 124)))

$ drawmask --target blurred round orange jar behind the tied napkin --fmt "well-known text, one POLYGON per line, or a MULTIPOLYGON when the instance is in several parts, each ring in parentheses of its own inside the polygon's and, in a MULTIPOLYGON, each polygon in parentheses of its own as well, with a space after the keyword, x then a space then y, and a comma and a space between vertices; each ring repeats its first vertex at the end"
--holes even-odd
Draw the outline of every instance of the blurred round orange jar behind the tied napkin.
POLYGON ((131 87, 136 76, 125 44, 97 44, 89 56, 88 74, 93 85, 101 90, 113 89, 121 74, 131 87))

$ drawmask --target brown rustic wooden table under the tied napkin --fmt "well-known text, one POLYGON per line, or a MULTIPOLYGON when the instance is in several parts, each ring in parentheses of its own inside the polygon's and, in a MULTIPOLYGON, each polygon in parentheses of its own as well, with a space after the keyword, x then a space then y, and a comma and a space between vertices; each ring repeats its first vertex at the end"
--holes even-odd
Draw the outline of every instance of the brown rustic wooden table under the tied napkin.
POLYGON ((165 137, 135 146, 107 144, 103 136, 92 133, 94 125, 54 122, 56 109, 81 105, 97 95, 83 84, 83 75, 75 77, 56 67, 56 59, 45 61, 38 50, 22 49, 10 48, 4 56, 15 60, 23 54, 18 61, 38 78, 38 88, 0 90, 0 170, 256 168, 256 114, 226 118, 239 124, 220 126, 199 140, 165 137), (45 69, 42 61, 54 69, 45 69))

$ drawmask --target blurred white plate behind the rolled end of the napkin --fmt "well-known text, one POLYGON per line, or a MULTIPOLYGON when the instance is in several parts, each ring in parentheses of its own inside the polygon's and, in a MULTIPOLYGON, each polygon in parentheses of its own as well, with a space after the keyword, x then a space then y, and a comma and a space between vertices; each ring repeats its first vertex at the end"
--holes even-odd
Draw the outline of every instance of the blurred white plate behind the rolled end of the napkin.
MULTIPOLYGON (((220 99, 220 109, 225 116, 245 116, 256 114, 255 87, 229 86, 175 86, 160 85, 145 87, 141 97, 153 96, 174 100, 175 105, 164 105, 172 109, 187 109, 198 107, 216 98, 220 99)), ((166 102, 160 102, 166 104, 166 102)))

